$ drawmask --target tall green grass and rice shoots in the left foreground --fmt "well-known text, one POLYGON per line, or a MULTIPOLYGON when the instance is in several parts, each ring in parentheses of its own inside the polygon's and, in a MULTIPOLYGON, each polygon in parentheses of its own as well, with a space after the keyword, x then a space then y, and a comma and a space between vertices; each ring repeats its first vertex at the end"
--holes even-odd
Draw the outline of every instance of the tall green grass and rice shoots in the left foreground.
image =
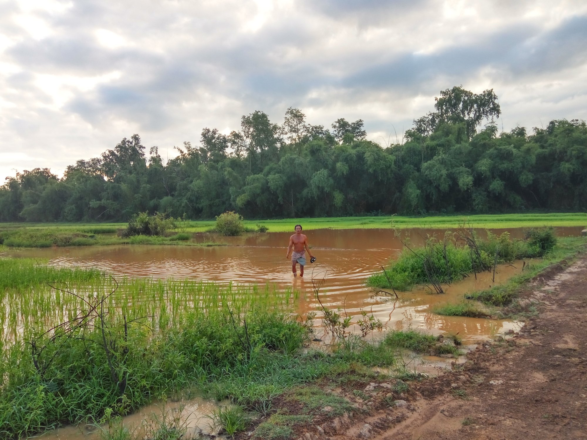
POLYGON ((455 350, 417 332, 392 332, 377 344, 345 340, 328 353, 304 350, 312 326, 291 314, 291 290, 115 280, 31 259, 0 259, 0 273, 7 275, 0 280, 6 439, 129 414, 184 391, 266 414, 296 384, 393 365, 399 348, 455 350))

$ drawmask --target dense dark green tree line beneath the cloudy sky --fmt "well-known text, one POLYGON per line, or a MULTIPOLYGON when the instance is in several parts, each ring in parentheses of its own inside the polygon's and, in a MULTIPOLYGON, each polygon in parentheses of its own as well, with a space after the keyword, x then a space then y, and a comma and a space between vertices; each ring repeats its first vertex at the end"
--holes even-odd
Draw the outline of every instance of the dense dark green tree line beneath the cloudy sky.
POLYGON ((62 178, 47 168, 16 173, 0 187, 0 221, 127 221, 137 212, 213 218, 585 211, 585 121, 499 133, 492 90, 440 92, 402 143, 366 140, 363 120, 330 129, 289 108, 282 124, 262 111, 241 130, 204 128, 164 161, 138 134, 62 178))

